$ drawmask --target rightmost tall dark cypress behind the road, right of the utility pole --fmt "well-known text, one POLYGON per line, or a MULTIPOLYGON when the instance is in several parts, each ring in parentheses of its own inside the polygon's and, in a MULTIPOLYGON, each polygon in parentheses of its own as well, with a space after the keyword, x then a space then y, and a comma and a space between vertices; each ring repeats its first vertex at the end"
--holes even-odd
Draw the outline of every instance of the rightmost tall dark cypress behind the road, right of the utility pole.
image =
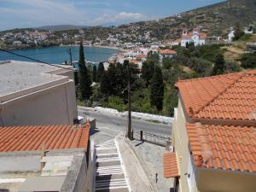
POLYGON ((155 67, 154 76, 150 85, 150 104, 158 111, 163 109, 165 87, 160 67, 155 67))

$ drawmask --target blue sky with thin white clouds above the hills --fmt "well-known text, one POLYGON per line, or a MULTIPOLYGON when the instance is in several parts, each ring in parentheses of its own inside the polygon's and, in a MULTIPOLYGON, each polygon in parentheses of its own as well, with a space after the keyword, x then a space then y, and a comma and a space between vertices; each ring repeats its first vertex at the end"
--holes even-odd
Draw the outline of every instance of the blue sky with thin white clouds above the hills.
POLYGON ((0 0, 0 30, 156 20, 222 0, 0 0))

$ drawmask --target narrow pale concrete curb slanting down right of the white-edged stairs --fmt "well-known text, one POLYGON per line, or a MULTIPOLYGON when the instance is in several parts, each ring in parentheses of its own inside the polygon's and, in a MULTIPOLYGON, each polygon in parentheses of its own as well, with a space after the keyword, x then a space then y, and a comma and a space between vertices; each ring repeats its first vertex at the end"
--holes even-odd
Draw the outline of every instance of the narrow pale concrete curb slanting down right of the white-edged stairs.
POLYGON ((133 145, 131 145, 130 143, 130 140, 128 140, 127 138, 123 138, 123 141, 131 148, 132 152, 135 154, 135 156, 137 157, 137 160, 140 162, 141 166, 143 167, 143 171, 146 173, 146 176, 148 177, 148 181, 150 183, 150 187, 151 189, 154 191, 154 192, 158 192, 158 189, 156 188, 155 184, 154 184, 154 181, 151 177, 149 177, 150 175, 150 172, 148 171, 148 168, 145 166, 146 163, 145 161, 143 160, 142 157, 140 157, 137 152, 136 152, 136 149, 134 148, 133 145))

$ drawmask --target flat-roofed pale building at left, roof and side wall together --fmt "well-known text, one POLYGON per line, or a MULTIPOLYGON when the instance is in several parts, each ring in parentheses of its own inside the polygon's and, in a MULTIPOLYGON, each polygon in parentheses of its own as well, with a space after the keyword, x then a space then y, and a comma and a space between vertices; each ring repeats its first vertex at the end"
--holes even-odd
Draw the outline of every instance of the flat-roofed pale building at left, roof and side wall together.
POLYGON ((0 61, 0 126, 73 125, 73 67, 0 61))

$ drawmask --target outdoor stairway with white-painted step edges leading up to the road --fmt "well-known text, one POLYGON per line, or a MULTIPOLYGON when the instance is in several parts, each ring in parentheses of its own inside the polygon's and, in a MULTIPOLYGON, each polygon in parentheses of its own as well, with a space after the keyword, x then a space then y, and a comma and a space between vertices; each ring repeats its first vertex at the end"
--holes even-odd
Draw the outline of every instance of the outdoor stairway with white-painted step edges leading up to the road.
POLYGON ((96 145, 96 191, 130 191, 116 139, 96 145))

